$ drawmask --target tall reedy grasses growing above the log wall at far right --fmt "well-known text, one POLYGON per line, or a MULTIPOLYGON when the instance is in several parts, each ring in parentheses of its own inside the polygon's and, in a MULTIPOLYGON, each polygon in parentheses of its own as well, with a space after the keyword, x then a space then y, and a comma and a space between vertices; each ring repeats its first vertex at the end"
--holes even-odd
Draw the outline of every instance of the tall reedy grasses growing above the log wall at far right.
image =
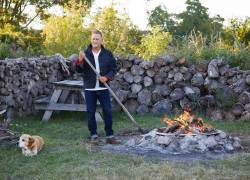
POLYGON ((202 33, 192 31, 178 41, 175 40, 175 45, 168 47, 167 51, 177 56, 184 56, 192 63, 204 59, 223 58, 232 66, 250 69, 249 47, 240 43, 235 47, 229 46, 220 34, 207 38, 202 33))

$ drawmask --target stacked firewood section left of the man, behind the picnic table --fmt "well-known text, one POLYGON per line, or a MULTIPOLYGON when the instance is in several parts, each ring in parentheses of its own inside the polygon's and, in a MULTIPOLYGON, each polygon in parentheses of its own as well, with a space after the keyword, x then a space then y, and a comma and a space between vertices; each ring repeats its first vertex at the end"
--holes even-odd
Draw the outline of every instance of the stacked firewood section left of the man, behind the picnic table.
POLYGON ((68 77, 61 58, 57 54, 0 60, 0 106, 7 102, 16 115, 34 114, 35 100, 51 94, 51 82, 68 77))

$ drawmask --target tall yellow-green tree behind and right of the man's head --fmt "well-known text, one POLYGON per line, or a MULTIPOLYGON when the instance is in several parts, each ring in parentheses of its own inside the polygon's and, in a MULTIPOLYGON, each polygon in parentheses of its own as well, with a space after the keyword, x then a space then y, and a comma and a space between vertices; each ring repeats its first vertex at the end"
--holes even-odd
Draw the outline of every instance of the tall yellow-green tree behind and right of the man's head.
POLYGON ((139 43, 140 32, 127 15, 119 15, 113 6, 102 9, 92 17, 90 29, 94 28, 104 34, 105 47, 115 54, 133 54, 133 46, 139 43))

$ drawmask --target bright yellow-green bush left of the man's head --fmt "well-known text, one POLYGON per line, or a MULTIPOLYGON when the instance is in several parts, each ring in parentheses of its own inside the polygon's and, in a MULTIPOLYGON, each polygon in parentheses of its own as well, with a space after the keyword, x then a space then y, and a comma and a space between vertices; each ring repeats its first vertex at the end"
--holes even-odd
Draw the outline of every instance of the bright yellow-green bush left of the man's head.
POLYGON ((45 53, 69 56, 88 43, 90 31, 82 26, 80 10, 67 9, 66 16, 50 17, 43 29, 45 53))

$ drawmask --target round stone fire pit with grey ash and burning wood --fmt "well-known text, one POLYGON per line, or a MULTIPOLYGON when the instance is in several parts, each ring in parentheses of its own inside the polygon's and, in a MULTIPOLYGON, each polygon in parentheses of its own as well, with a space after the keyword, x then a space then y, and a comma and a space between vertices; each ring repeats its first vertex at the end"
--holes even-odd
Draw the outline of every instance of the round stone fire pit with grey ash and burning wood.
POLYGON ((156 152, 161 154, 225 154, 242 149, 240 139, 205 124, 203 119, 184 111, 179 117, 162 118, 165 127, 151 130, 142 136, 132 136, 122 145, 106 146, 105 150, 123 152, 156 152))

